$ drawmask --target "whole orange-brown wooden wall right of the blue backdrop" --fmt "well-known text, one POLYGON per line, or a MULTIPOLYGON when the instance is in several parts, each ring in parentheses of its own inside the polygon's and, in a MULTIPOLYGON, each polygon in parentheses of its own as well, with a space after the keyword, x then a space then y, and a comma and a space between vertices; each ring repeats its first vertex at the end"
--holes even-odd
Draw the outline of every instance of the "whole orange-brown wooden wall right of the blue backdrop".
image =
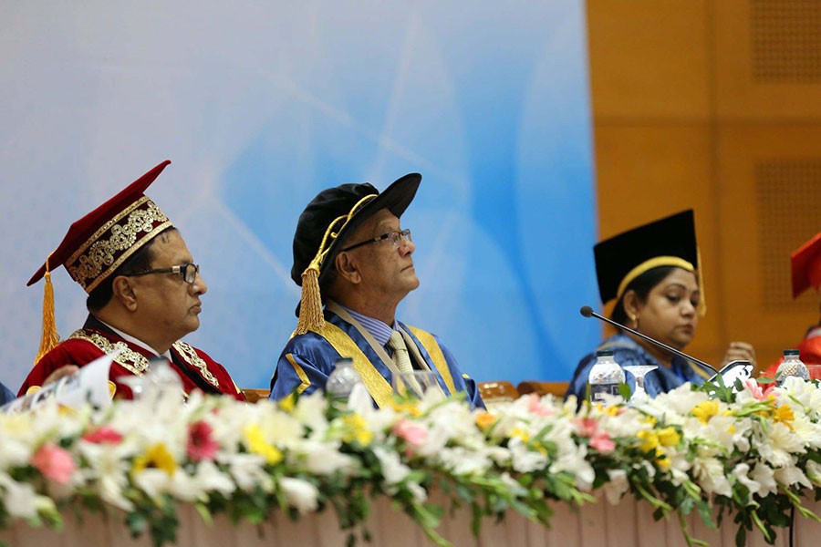
POLYGON ((748 340, 767 366, 818 320, 779 275, 821 231, 821 2, 588 0, 587 19, 601 237, 695 208, 709 311, 688 349, 748 340))

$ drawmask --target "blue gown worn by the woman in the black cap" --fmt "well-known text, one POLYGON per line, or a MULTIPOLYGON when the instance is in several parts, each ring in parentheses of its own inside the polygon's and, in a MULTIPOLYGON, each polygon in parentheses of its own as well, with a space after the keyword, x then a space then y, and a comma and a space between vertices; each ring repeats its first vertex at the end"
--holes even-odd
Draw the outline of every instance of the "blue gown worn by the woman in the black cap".
MULTIPOLYGON (((696 386, 701 386, 701 384, 710 377, 705 371, 701 370, 698 365, 692 364, 680 356, 673 356, 670 367, 661 365, 654 356, 651 356, 647 350, 639 346, 639 344, 628 335, 618 334, 610 336, 596 348, 597 351, 600 349, 613 350, 613 358, 620 366, 658 366, 656 370, 649 372, 647 376, 644 377, 644 389, 650 397, 656 397, 660 393, 667 393, 685 382, 691 382, 696 386)), ((579 361, 576 372, 573 374, 573 379, 570 380, 570 386, 567 387, 565 397, 575 395, 579 401, 585 397, 587 377, 590 376, 590 369, 593 368, 595 363, 595 351, 584 356, 582 360, 579 361)), ((625 377, 627 378, 627 383, 632 393, 636 389, 636 380, 633 375, 628 372, 625 372, 625 377)))

